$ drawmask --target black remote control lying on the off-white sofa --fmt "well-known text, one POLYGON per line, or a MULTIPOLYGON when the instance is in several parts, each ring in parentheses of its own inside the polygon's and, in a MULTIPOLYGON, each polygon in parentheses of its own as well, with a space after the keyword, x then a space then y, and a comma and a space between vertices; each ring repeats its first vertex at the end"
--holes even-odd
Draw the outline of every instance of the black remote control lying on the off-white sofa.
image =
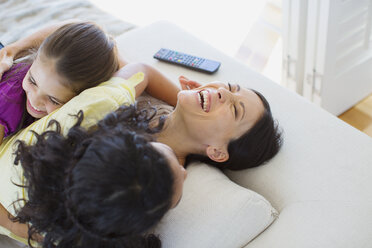
POLYGON ((200 58, 197 56, 180 53, 165 48, 162 48, 157 53, 155 53, 154 58, 206 73, 216 72, 221 65, 220 62, 214 60, 200 58))

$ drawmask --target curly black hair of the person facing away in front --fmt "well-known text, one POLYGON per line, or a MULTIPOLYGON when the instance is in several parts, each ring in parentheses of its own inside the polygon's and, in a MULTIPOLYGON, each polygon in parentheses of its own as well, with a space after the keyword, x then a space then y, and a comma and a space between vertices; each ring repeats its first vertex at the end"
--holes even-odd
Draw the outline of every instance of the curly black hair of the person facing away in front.
POLYGON ((55 131, 35 133, 34 145, 18 141, 28 199, 13 221, 31 224, 29 244, 40 233, 48 248, 161 246, 146 232, 171 207, 174 178, 147 116, 122 107, 85 130, 80 112, 66 137, 51 121, 55 131))

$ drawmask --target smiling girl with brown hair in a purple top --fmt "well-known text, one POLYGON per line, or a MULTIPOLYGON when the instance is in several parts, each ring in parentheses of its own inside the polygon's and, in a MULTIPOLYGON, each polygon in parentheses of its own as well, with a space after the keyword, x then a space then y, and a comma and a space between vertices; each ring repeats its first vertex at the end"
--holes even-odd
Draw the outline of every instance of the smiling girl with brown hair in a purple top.
POLYGON ((31 64, 15 64, 2 75, 0 144, 84 89, 108 80, 119 67, 114 40, 96 24, 61 25, 43 41, 31 64))

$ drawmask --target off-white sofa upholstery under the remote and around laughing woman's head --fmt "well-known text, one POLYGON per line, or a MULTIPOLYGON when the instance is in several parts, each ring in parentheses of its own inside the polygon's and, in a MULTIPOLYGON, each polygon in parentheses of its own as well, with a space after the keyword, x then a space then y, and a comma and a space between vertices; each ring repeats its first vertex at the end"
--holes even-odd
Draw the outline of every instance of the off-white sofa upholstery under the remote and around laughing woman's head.
MULTIPOLYGON (((221 39, 228 37, 221 34, 221 39)), ((175 82, 179 75, 200 82, 238 82, 262 92, 271 103, 284 130, 282 150, 264 166, 227 172, 238 184, 266 197, 280 212, 279 218, 246 247, 371 247, 370 137, 172 24, 155 23, 117 40, 125 58, 151 64, 175 82), (218 60, 222 65, 213 75, 169 65, 152 58, 161 47, 218 60)))

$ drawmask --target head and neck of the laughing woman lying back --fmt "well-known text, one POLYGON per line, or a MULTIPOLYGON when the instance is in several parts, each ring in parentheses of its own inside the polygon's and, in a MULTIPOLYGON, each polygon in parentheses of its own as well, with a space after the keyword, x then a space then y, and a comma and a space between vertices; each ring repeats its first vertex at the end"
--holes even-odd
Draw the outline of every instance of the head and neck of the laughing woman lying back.
POLYGON ((198 160, 220 169, 242 170, 274 157, 282 135, 259 92, 238 84, 201 86, 180 77, 183 89, 157 140, 172 147, 181 164, 198 160))

